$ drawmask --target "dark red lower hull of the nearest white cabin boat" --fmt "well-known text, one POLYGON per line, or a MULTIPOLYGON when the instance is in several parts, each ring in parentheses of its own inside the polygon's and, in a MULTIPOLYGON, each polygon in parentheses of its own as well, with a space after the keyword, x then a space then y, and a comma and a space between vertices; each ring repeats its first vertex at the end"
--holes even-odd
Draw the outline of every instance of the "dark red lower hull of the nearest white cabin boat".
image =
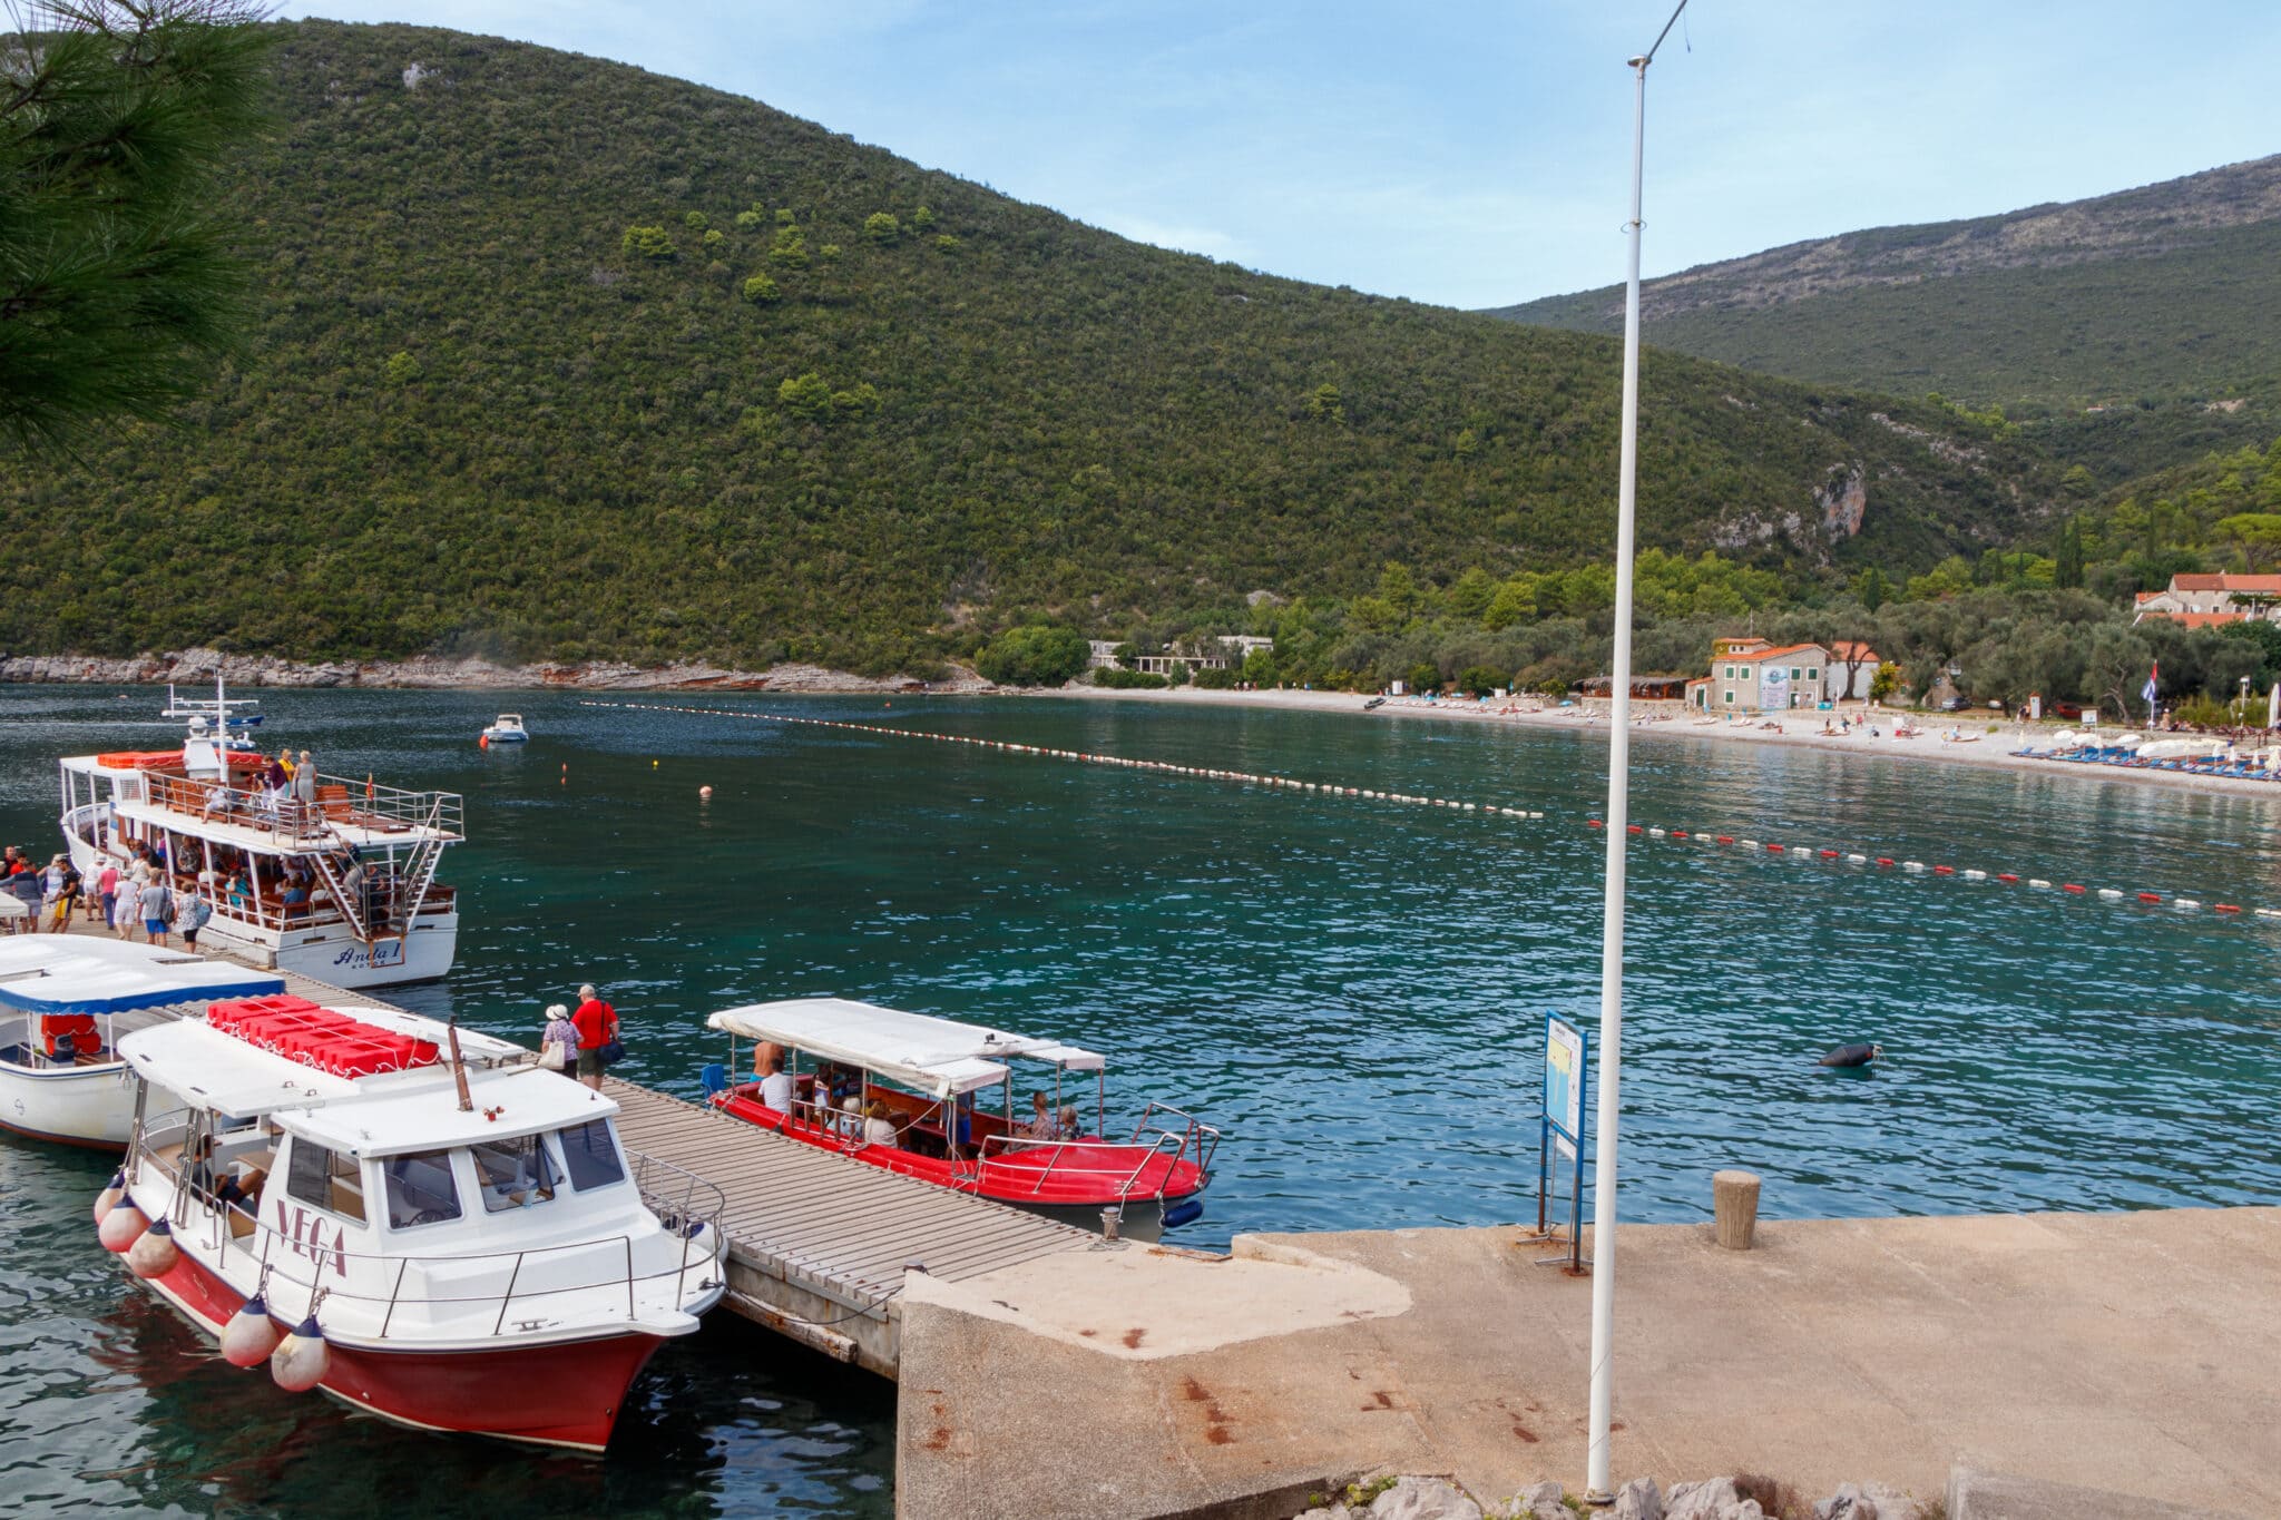
MULTIPOLYGON (((187 1253, 146 1285, 208 1335, 221 1335, 221 1326, 244 1304, 244 1294, 187 1253)), ((600 1452, 625 1408, 625 1390, 659 1345, 659 1335, 604 1335, 495 1351, 374 1351, 333 1342, 331 1372, 317 1386, 424 1431, 600 1452)))

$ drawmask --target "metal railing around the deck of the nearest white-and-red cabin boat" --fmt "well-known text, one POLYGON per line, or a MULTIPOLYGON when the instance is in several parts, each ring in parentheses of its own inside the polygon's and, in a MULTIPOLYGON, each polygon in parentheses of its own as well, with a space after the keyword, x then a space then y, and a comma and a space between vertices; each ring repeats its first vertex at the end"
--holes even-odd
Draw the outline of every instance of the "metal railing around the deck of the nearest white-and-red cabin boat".
MULTIPOLYGON (((135 1149, 130 1155, 139 1155, 144 1167, 155 1169, 173 1183, 173 1206, 169 1208, 169 1221, 180 1235, 198 1224, 208 1226, 205 1247, 217 1253, 219 1265, 228 1265, 230 1253, 240 1253, 260 1267, 262 1281, 271 1276, 285 1278, 310 1292, 315 1304, 340 1299, 347 1304, 370 1306, 381 1326, 376 1340, 388 1340, 395 1326, 397 1310, 406 1308, 440 1308, 440 1310, 468 1310, 470 1306, 481 1310, 497 1304, 497 1313, 490 1322, 490 1333, 497 1335, 506 1329, 511 1313, 520 1306, 529 1310, 545 1299, 561 1299, 568 1294, 598 1294, 609 1290, 611 1297, 625 1290, 625 1322, 639 1322, 639 1290, 646 1285, 673 1283, 673 1304, 687 1301, 687 1278, 691 1269, 705 1269, 719 1262, 725 1249, 723 1235, 719 1231, 719 1206, 714 1217, 696 1219, 684 1217, 684 1224, 675 1231, 682 1235, 682 1251, 673 1267, 657 1267, 636 1272, 634 1267, 634 1237, 630 1233, 618 1235, 593 1235, 588 1240, 573 1240, 550 1247, 525 1247, 520 1251, 468 1251, 468 1253, 381 1253, 381 1251, 349 1251, 340 1244, 319 1244, 315 1235, 290 1237, 274 1224, 260 1217, 260 1208, 246 1208, 244 1203, 230 1201, 221 1203, 208 1194, 189 1187, 182 1167, 180 1151, 173 1158, 162 1155, 162 1151, 173 1144, 180 1146, 189 1135, 189 1110, 176 1110, 171 1114, 160 1114, 146 1119, 137 1130, 135 1149), (173 1137, 173 1139, 169 1139, 173 1137), (703 1226, 709 1226, 703 1228, 703 1226), (705 1235, 705 1244, 698 1247, 698 1237, 705 1235), (693 1258, 693 1260, 691 1260, 693 1258), (614 1262, 609 1269, 582 1274, 573 1281, 561 1281, 563 1272, 577 1272, 582 1262, 614 1262), (308 1276, 297 1276, 294 1267, 308 1267, 308 1276), (358 1272, 365 1267, 365 1272, 358 1272), (456 1283, 463 1292, 436 1292, 433 1288, 420 1292, 406 1292, 406 1278, 420 1274, 422 1283, 456 1283), (333 1281, 324 1281, 331 1276, 333 1281), (388 1292, 376 1288, 354 1285, 358 1278, 374 1281, 385 1278, 388 1292), (536 1281, 538 1285, 531 1285, 536 1281), (490 1288, 500 1283, 500 1288, 490 1288)), ((664 1164, 664 1162, 652 1162, 664 1164)), ((673 1169, 677 1171, 677 1169, 673 1169)), ((636 1174, 639 1176, 639 1174, 636 1174)), ((709 1183, 707 1183, 709 1187, 709 1183)), ((648 1203, 648 1192, 641 1194, 648 1203)), ((714 1194, 719 1199, 719 1192, 714 1194)), ((543 1317, 518 1317, 516 1326, 522 1331, 536 1331, 545 1324, 543 1317)))

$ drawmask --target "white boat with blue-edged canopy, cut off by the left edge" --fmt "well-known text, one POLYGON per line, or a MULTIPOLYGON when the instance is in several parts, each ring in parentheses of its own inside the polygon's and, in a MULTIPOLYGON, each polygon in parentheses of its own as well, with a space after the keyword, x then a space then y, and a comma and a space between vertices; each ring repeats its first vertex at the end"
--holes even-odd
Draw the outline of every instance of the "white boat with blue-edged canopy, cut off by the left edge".
POLYGON ((285 982, 160 946, 87 934, 0 939, 0 1128, 119 1151, 135 1128, 135 1085, 119 1041, 205 1016, 214 998, 258 998, 285 982))

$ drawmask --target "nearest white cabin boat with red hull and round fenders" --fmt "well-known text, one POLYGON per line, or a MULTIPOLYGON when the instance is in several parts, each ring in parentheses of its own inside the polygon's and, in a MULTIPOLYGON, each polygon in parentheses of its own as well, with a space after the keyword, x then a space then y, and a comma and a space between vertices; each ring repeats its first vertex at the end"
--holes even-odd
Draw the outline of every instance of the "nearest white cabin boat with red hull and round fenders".
POLYGON ((600 1452, 721 1299, 719 1194, 520 1046, 278 996, 119 1048, 139 1092, 103 1244, 290 1390, 600 1452))

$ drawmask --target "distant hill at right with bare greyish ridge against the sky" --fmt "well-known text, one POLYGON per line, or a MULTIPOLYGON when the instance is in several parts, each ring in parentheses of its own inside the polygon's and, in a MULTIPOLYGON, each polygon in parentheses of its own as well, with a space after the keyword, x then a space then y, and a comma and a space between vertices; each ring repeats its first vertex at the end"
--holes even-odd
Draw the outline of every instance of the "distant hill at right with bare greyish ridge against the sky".
MULTIPOLYGON (((1640 305, 1683 353, 2003 406, 2112 481, 2281 428, 2281 157, 1770 248, 1651 280, 1640 305)), ((1617 333, 1622 289, 1494 314, 1617 333)))

